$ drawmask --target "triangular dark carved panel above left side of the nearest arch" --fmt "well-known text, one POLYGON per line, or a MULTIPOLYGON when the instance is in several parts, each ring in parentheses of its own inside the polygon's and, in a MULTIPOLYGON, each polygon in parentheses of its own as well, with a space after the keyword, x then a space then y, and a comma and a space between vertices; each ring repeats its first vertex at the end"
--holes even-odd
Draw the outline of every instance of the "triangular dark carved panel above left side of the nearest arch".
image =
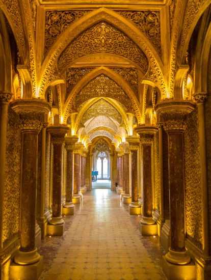
POLYGON ((88 12, 89 11, 46 11, 45 54, 67 27, 88 12))

